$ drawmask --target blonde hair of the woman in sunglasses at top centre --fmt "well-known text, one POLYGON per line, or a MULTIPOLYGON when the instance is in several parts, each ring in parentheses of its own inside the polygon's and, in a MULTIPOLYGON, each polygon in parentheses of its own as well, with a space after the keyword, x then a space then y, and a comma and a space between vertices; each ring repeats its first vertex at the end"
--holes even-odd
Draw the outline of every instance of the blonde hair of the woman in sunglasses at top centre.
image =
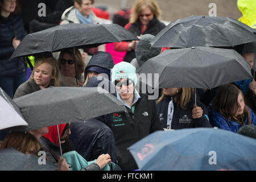
POLYGON ((130 23, 135 23, 139 18, 139 14, 141 14, 142 10, 146 7, 152 11, 156 19, 160 20, 161 11, 158 3, 156 3, 154 0, 138 0, 131 9, 130 23))

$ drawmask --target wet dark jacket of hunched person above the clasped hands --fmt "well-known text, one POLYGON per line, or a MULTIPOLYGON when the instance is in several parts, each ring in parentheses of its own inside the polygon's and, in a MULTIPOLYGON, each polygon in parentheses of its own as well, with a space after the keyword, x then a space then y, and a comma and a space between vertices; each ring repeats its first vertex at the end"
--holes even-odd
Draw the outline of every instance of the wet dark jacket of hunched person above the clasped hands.
POLYGON ((71 123, 70 130, 69 140, 72 148, 85 160, 92 161, 101 154, 109 154, 112 162, 116 162, 114 135, 100 118, 71 123))

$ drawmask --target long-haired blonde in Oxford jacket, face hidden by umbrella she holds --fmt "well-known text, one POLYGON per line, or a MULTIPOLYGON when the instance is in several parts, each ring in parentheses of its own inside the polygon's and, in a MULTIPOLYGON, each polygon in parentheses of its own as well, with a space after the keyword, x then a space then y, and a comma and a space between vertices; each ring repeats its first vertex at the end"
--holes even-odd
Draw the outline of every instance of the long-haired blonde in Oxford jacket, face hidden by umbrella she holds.
POLYGON ((164 129, 212 127, 204 104, 196 101, 192 88, 164 88, 156 101, 159 118, 164 129))

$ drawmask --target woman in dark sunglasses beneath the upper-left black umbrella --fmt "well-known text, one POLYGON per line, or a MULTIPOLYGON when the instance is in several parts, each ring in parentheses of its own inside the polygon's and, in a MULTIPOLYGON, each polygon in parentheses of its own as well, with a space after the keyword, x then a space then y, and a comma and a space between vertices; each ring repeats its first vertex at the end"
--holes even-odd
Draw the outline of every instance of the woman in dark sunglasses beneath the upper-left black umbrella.
POLYGON ((81 53, 77 48, 75 48, 75 58, 76 61, 74 61, 73 49, 64 49, 60 52, 58 64, 61 73, 60 82, 63 86, 77 86, 76 76, 79 85, 84 83, 85 63, 82 61, 81 53))

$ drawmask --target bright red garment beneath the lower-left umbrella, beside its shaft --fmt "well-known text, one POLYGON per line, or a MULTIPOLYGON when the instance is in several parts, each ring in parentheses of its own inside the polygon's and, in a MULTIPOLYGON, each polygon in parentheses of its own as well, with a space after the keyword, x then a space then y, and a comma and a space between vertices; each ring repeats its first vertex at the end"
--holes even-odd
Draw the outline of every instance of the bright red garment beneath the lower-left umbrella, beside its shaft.
MULTIPOLYGON (((58 125, 60 136, 63 133, 63 130, 64 130, 65 126, 66 126, 66 124, 58 125)), ((56 125, 48 126, 47 128, 48 128, 48 133, 44 134, 43 137, 47 138, 52 143, 54 143, 57 146, 59 146, 59 138, 58 138, 58 133, 57 133, 57 126, 56 125)))

